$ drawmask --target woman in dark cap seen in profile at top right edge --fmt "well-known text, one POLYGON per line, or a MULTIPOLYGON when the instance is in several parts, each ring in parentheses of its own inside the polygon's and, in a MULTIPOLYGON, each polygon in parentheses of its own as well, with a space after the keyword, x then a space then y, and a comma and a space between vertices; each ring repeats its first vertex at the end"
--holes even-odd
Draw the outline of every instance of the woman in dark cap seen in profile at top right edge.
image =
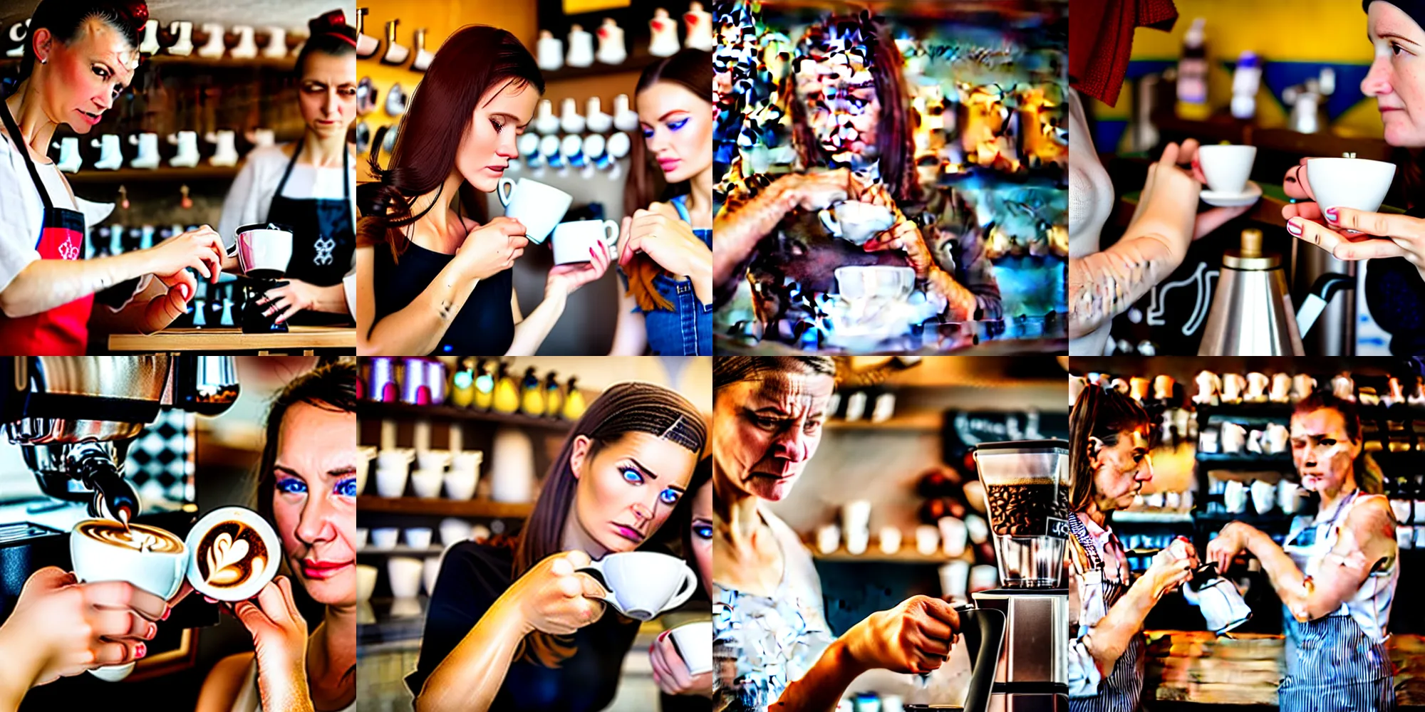
MULTIPOLYGON (((1361 212, 1315 202, 1285 205, 1287 231, 1331 252, 1337 259, 1375 259, 1365 272, 1365 303, 1382 329, 1391 332, 1391 353, 1425 353, 1425 7, 1418 3, 1362 0, 1367 34, 1375 46, 1371 71, 1361 93, 1375 97, 1385 142, 1401 148, 1405 215, 1361 212), (1325 222, 1322 225, 1321 222, 1325 222), (1345 234, 1355 231, 1355 234, 1345 234), (1384 239, 1369 239, 1384 238, 1384 239)), ((1282 187, 1290 198, 1315 201, 1311 181, 1300 165, 1287 171, 1282 187)))

